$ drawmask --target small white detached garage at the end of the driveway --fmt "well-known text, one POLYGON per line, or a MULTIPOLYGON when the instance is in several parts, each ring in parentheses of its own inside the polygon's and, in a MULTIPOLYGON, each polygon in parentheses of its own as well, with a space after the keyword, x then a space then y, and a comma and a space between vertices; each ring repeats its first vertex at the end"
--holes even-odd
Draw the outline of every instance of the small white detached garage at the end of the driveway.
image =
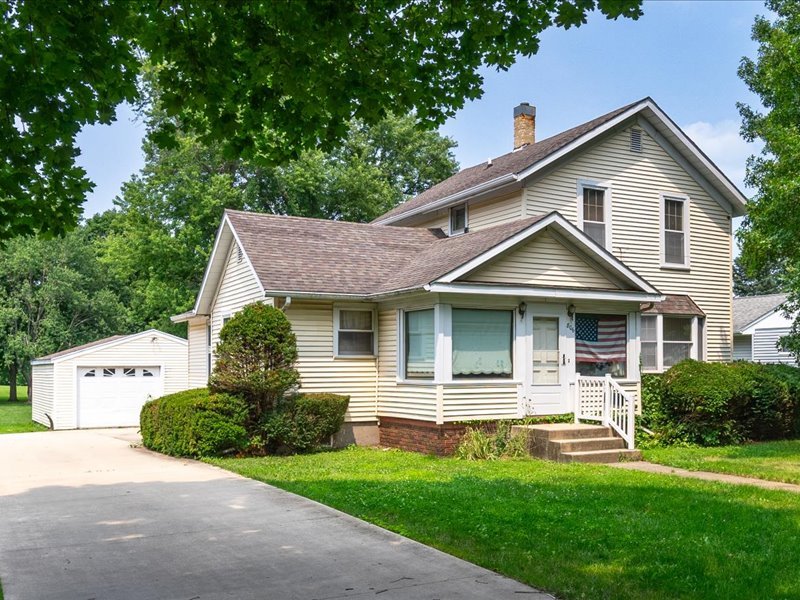
POLYGON ((130 427, 151 398, 188 388, 186 340, 150 329, 31 362, 33 420, 54 429, 130 427))

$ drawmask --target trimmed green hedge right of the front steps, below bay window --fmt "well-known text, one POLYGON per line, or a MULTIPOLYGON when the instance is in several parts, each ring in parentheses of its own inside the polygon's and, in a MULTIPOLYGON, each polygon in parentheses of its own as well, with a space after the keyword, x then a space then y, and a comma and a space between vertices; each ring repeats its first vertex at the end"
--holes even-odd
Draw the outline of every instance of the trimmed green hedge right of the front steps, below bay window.
POLYGON ((660 444, 720 446, 800 434, 800 369, 683 361, 642 378, 642 424, 660 444))

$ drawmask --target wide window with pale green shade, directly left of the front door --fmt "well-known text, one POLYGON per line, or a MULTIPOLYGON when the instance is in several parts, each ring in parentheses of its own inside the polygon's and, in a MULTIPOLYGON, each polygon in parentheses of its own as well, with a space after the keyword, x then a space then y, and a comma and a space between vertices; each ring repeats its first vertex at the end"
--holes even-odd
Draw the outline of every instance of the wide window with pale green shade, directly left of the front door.
POLYGON ((513 375, 514 312, 453 308, 453 379, 513 375))

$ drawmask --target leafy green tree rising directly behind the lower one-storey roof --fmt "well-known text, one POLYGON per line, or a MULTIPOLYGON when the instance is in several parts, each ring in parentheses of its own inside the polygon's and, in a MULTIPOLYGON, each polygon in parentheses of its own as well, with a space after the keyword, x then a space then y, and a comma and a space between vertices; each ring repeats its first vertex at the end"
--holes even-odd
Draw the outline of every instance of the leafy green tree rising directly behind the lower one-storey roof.
MULTIPOLYGON (((164 119, 151 110, 151 133, 164 119)), ((452 175, 455 143, 412 115, 351 122, 332 152, 304 152, 279 167, 227 159, 215 143, 179 132, 177 146, 145 140, 145 167, 123 186, 117 210, 87 228, 105 233, 103 261, 137 327, 174 333, 169 316, 191 307, 225 208, 369 221, 452 175)))

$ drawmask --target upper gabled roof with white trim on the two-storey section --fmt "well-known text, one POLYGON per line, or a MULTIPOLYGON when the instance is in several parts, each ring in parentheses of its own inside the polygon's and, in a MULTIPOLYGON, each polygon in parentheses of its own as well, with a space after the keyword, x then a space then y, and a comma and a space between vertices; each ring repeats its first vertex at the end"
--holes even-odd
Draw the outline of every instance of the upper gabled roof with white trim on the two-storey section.
POLYGON ((637 118, 651 123, 648 133, 653 137, 677 149, 687 161, 690 174, 699 174, 710 186, 713 186, 715 193, 712 190, 707 191, 718 200, 721 199, 734 216, 741 216, 745 213, 747 199, 742 192, 658 107, 653 99, 647 97, 535 144, 529 144, 514 152, 493 158, 490 162, 463 169, 381 215, 373 222, 384 225, 397 223, 414 215, 463 202, 492 189, 522 182, 537 170, 577 150, 597 136, 617 126, 631 123, 637 118), (695 170, 696 173, 691 173, 692 170, 695 170))

